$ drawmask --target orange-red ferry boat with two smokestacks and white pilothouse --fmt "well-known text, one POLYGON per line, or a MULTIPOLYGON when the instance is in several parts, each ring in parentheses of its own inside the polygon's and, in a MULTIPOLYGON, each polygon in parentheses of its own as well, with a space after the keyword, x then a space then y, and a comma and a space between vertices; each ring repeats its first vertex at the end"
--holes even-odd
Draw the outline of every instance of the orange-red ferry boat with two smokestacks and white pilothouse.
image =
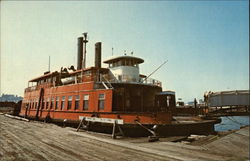
POLYGON ((109 123, 116 120, 126 135, 148 135, 158 125, 169 128, 174 92, 163 91, 160 81, 140 74, 144 60, 116 56, 105 60, 108 67, 103 68, 102 45, 97 42, 95 65, 86 67, 87 42, 86 33, 78 38, 77 69, 62 67, 28 82, 20 115, 76 124, 84 118, 92 122, 88 128, 104 132, 110 132, 113 125, 109 123))

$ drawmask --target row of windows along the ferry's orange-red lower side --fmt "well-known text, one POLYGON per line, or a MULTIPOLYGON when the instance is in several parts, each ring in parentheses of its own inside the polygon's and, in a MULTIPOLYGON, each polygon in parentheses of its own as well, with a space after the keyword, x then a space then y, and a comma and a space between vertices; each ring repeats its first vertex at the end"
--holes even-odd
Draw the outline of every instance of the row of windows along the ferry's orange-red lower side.
MULTIPOLYGON (((60 97, 56 96, 56 97, 48 97, 45 98, 41 103, 41 107, 42 109, 55 109, 55 110, 79 110, 80 108, 80 96, 79 95, 75 95, 74 96, 74 102, 75 102, 75 106, 73 108, 73 96, 68 96, 67 97, 67 107, 66 107, 66 96, 62 96, 61 97, 61 106, 59 107, 59 102, 60 102, 60 97), (50 101, 51 100, 51 101, 50 101)), ((83 95, 83 99, 82 99, 83 103, 83 110, 88 110, 89 109, 89 94, 83 95)), ((104 104, 105 104, 105 94, 99 94, 99 99, 98 99, 98 109, 99 110, 103 110, 104 109, 104 104)), ((28 103, 26 103, 26 107, 27 108, 31 108, 31 109, 36 109, 38 107, 38 100, 30 100, 28 103)))

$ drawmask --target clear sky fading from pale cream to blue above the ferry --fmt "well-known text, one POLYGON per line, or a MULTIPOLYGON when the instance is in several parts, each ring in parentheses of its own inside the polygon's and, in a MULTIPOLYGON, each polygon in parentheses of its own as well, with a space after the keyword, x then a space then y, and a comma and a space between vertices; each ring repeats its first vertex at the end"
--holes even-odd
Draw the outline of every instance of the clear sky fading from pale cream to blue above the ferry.
MULTIPOLYGON (((249 89, 248 1, 0 1, 1 93, 23 96, 28 80, 76 66, 77 37, 88 32, 102 60, 124 51, 143 58, 140 72, 176 98, 249 89)), ((106 67, 105 64, 102 64, 106 67)))

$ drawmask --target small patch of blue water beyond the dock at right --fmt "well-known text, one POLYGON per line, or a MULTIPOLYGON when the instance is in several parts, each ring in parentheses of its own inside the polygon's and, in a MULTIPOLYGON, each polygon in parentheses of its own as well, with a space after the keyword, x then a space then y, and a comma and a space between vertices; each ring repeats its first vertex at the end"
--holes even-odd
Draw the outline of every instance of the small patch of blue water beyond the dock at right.
POLYGON ((221 117, 221 123, 215 125, 215 131, 237 130, 241 126, 250 125, 249 116, 221 117))

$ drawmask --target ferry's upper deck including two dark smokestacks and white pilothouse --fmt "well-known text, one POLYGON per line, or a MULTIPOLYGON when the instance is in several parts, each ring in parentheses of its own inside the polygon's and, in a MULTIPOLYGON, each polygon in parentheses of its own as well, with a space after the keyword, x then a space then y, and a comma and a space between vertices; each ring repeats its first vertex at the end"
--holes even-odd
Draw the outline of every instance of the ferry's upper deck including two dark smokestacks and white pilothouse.
MULTIPOLYGON (((161 87, 161 82, 140 74, 139 64, 144 60, 135 56, 116 56, 105 60, 108 68, 101 67, 101 42, 95 44, 95 66, 85 67, 87 36, 78 38, 77 70, 74 66, 61 68, 60 71, 45 72, 44 75, 28 82, 25 92, 40 88, 51 88, 79 83, 131 83, 161 87), (85 49, 83 50, 83 44, 85 49)), ((105 87, 107 88, 107 87, 105 87)))

